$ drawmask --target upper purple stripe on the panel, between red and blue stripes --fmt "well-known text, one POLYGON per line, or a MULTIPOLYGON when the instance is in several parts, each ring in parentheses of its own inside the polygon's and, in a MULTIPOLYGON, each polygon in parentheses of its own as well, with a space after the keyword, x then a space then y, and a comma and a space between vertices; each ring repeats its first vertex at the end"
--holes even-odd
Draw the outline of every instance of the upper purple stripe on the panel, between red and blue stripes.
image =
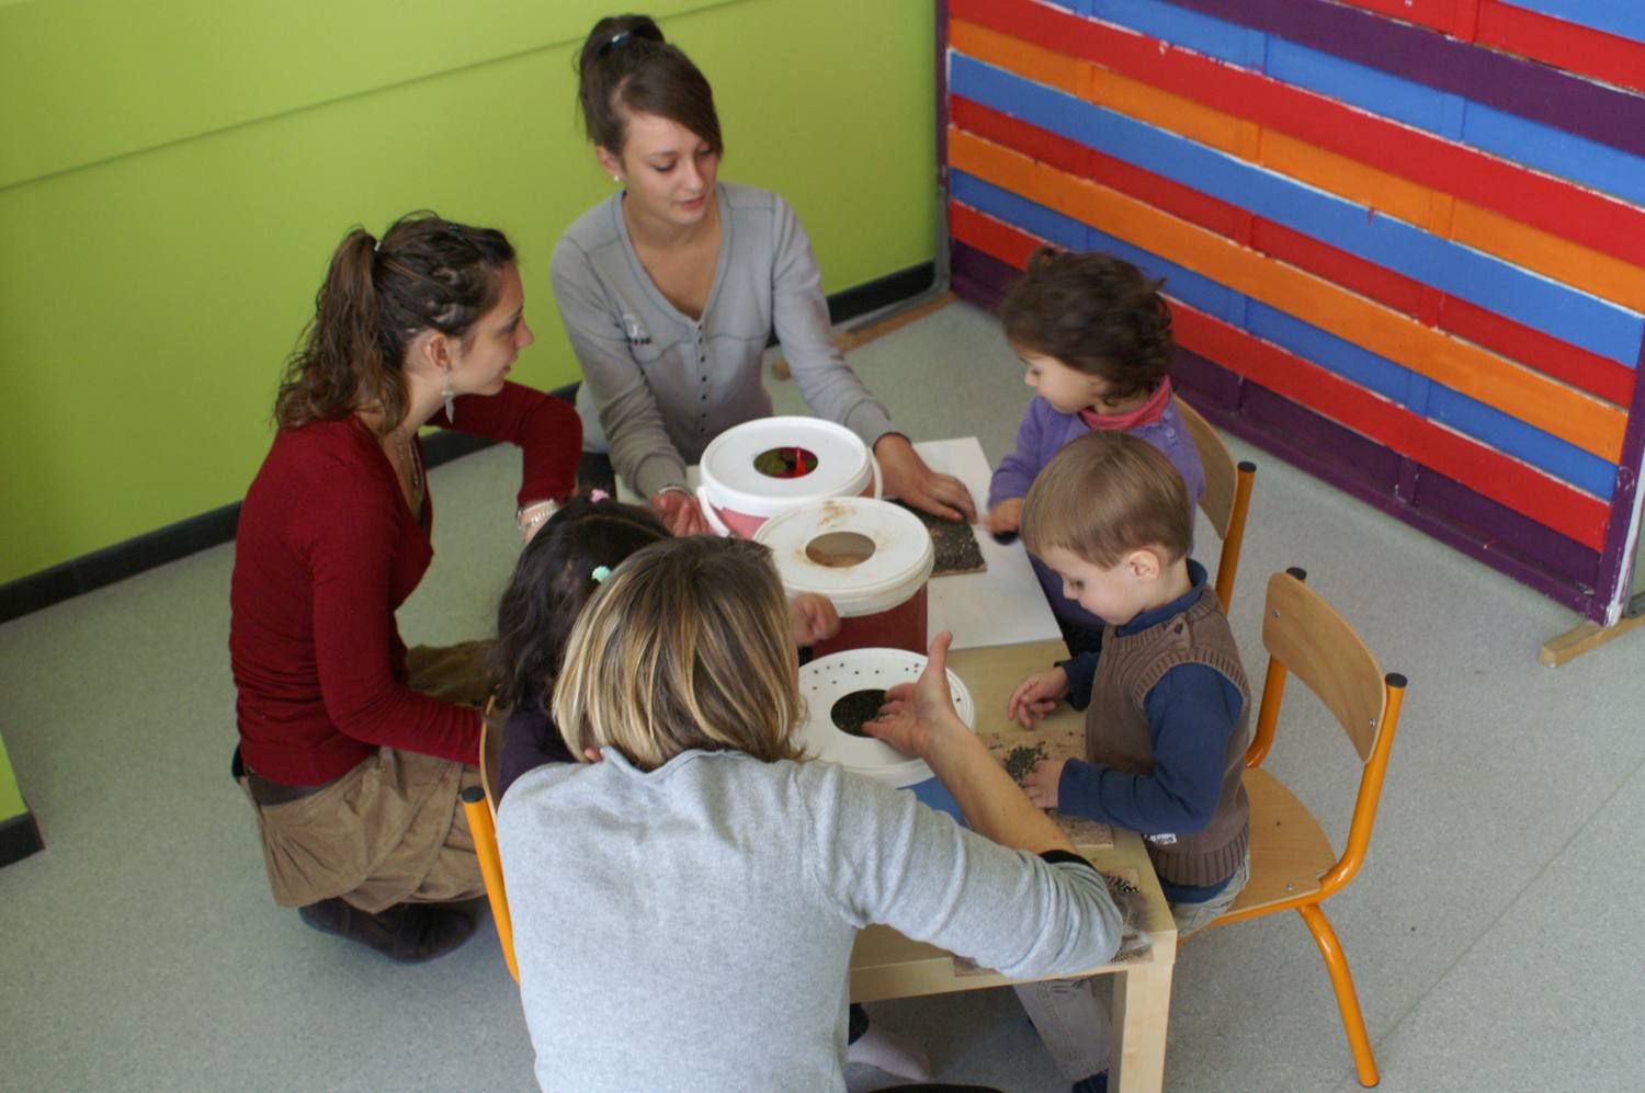
POLYGON ((1170 0, 1645 156, 1645 95, 1329 0, 1170 0))

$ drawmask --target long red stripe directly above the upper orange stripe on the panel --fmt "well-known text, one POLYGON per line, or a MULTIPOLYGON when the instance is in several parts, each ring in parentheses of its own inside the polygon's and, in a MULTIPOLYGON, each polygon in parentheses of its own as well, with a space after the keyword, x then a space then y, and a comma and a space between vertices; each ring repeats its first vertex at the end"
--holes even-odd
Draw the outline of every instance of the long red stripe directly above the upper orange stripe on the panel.
POLYGON ((1645 266, 1645 209, 1627 202, 1064 8, 1033 0, 951 0, 949 16, 1084 58, 1216 110, 1235 108, 1239 117, 1319 148, 1645 266))

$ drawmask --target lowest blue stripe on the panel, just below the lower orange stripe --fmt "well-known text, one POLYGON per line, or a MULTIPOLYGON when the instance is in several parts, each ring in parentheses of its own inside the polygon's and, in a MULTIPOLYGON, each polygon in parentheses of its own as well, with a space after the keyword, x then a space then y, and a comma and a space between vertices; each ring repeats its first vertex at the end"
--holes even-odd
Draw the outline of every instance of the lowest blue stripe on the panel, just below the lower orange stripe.
MULTIPOLYGON (((1068 238, 1073 227, 1077 227, 1077 220, 964 171, 954 171, 951 181, 954 199, 962 205, 1058 247, 1071 245, 1068 238), (1048 235, 1040 228, 1050 228, 1056 235, 1048 235)), ((1224 284, 1209 281, 1152 251, 1094 228, 1086 233, 1084 250, 1117 255, 1148 276, 1165 278, 1165 291, 1189 307, 1230 322, 1332 375, 1398 403, 1423 417, 1444 422, 1451 429, 1579 490, 1609 500, 1615 488, 1617 468, 1604 459, 1277 307, 1240 296, 1224 284), (1244 321, 1239 319, 1240 314, 1244 314, 1244 321)))

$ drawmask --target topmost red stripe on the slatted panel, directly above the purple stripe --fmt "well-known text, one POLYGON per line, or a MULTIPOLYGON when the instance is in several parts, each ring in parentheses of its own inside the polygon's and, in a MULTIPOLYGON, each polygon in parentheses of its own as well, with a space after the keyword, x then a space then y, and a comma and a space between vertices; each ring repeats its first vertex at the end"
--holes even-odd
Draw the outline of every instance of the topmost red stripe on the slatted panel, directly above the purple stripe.
POLYGON ((1337 0, 1566 72, 1645 90, 1645 44, 1499 0, 1337 0))

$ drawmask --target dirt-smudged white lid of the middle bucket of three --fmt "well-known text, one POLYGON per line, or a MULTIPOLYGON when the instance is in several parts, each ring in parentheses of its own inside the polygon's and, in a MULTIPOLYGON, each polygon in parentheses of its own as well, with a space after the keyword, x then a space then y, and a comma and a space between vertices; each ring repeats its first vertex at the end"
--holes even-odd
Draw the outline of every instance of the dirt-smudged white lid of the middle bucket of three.
POLYGON ((755 542, 772 549, 790 595, 814 592, 834 602, 842 618, 893 608, 931 579, 936 547, 920 518, 890 501, 836 496, 788 510, 760 524, 755 542), (873 546, 854 565, 826 565, 808 547, 822 536, 852 533, 873 546))

